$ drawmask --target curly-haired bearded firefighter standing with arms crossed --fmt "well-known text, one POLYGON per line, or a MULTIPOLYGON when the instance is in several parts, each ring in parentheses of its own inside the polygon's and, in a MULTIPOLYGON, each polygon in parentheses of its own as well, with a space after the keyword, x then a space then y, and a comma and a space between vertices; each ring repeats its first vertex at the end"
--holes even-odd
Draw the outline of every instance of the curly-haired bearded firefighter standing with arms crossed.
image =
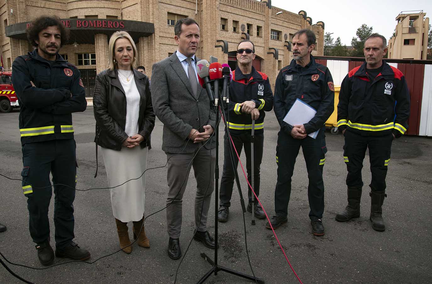
POLYGON ((90 253, 73 243, 77 164, 72 125, 72 112, 83 112, 87 106, 84 86, 78 68, 58 54, 68 39, 68 31, 59 18, 35 19, 27 35, 36 49, 15 59, 12 82, 21 108, 22 191, 27 197, 30 235, 39 261, 50 265, 54 261, 48 219, 51 172, 55 255, 85 260, 90 253))

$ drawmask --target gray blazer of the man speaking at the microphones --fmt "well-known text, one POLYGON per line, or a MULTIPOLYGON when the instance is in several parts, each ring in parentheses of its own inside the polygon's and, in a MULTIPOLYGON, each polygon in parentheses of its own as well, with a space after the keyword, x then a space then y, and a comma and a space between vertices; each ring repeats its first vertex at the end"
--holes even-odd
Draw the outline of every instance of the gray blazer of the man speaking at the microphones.
MULTIPOLYGON (((195 56, 195 62, 198 61, 195 56)), ((164 124, 162 150, 166 153, 180 153, 192 128, 203 132, 203 126, 210 124, 216 129, 216 113, 210 107, 206 90, 198 86, 198 93, 197 97, 192 93, 176 53, 153 64, 152 103, 156 116, 164 124)), ((216 140, 211 140, 204 147, 216 147, 216 140)), ((183 153, 193 153, 201 146, 202 143, 189 141, 183 153)))

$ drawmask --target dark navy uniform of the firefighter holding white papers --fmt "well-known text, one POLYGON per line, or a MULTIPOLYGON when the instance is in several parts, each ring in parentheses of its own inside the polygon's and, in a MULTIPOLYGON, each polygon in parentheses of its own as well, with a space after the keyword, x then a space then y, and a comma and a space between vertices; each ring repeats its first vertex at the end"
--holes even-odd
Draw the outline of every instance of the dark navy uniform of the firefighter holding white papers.
POLYGON ((275 211, 280 216, 287 216, 291 195, 291 178, 295 160, 302 147, 308 171, 309 217, 321 219, 324 213, 324 183, 322 170, 325 162, 324 123, 334 110, 333 79, 327 67, 317 64, 311 55, 311 62, 301 67, 293 60, 283 68, 275 85, 274 112, 280 124, 276 146, 278 162, 277 183, 275 189, 275 211), (295 139, 291 136, 292 125, 283 118, 296 99, 300 99, 317 110, 316 115, 304 124, 306 133, 318 131, 316 139, 306 136, 295 139))

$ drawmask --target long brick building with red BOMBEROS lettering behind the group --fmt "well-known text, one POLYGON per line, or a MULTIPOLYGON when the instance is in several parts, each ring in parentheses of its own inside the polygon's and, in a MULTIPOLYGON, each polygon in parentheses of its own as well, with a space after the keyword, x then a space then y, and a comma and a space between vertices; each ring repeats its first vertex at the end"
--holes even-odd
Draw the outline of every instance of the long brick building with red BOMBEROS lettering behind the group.
POLYGON ((193 18, 200 25, 198 57, 213 55, 235 67, 238 42, 249 38, 257 54, 254 66, 267 73, 272 83, 292 58, 292 34, 297 30, 315 32, 313 54, 322 55, 324 49, 324 22, 312 24, 305 11, 296 14, 273 7, 271 0, 0 0, 4 68, 32 50, 25 38, 25 25, 40 15, 56 15, 70 22, 70 42, 60 54, 82 70, 89 95, 95 74, 108 67, 108 39, 121 29, 119 22, 124 30, 133 31, 138 63, 146 67, 149 76, 153 63, 176 51, 173 25, 182 17, 193 18), (118 28, 113 28, 114 23, 118 28))

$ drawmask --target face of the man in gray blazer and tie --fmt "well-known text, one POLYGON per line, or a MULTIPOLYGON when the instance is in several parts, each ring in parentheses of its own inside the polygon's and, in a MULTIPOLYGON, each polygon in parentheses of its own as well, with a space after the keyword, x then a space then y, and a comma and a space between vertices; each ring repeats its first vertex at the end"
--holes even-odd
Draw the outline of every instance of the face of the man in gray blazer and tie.
POLYGON ((175 35, 174 39, 178 44, 178 51, 186 57, 192 57, 200 46, 200 28, 197 24, 182 24, 180 36, 175 35))

